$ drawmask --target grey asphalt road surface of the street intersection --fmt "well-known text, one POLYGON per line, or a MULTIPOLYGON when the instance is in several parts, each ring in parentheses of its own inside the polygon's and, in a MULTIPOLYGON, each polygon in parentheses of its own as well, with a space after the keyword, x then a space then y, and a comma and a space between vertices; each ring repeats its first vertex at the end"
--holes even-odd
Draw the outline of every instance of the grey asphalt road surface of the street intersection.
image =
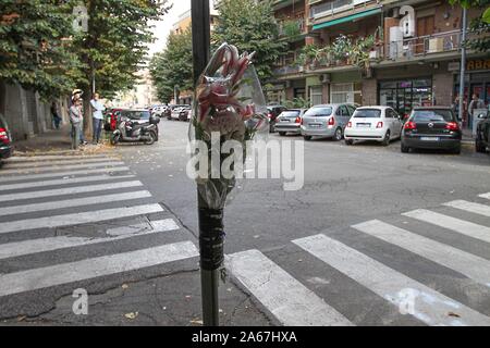
MULTIPOLYGON (((119 227, 171 220, 179 229, 3 258, 0 281, 12 273, 22 278, 24 271, 56 266, 60 260, 87 266, 81 262, 105 254, 124 257, 187 241, 197 246, 196 187, 185 173, 187 127, 187 123, 162 121, 156 145, 119 146, 113 161, 121 161, 128 171, 110 175, 134 175, 125 179, 139 182, 142 188, 100 192, 103 197, 144 189, 151 195, 149 203, 161 207, 161 211, 120 219, 119 227)), ((270 135, 270 139, 303 142, 295 136, 270 135)), ((480 197, 490 192, 489 156, 477 154, 469 146, 462 156, 404 154, 399 141, 389 147, 347 147, 314 140, 304 142, 304 148, 302 189, 284 191, 282 179, 241 182, 225 210, 230 279, 220 288, 223 324, 490 325, 490 207, 480 197), (414 300, 407 302, 411 297, 414 300), (408 308, 408 314, 402 307, 408 308)), ((0 184, 0 189, 1 185, 7 184, 0 184)), ((5 189, 5 194, 37 190, 5 189)), ((79 192, 76 197, 93 196, 79 192)), ((16 206, 16 198, 1 202, 0 210, 16 206)), ((131 208, 148 203, 147 199, 133 200, 132 206, 121 200, 96 207, 131 208)), ((23 198, 21 203, 41 201, 23 198)), ((56 214, 71 211, 59 208, 56 214)), ((76 213, 91 211, 85 206, 76 209, 76 213)), ((10 223, 12 216, 27 215, 0 215, 0 223, 10 223)), ((46 213, 28 216, 41 219, 46 213)), ((0 234, 0 246, 33 235, 105 238, 114 222, 71 226, 63 221, 54 231, 34 227, 9 227, 0 234)), ((53 270, 42 269, 37 276, 53 270)), ((40 289, 30 289, 26 282, 16 291, 0 287, 0 318, 5 324, 199 324, 195 256, 106 273, 40 289), (74 315, 71 310, 71 293, 77 287, 88 290, 88 315, 74 315)))

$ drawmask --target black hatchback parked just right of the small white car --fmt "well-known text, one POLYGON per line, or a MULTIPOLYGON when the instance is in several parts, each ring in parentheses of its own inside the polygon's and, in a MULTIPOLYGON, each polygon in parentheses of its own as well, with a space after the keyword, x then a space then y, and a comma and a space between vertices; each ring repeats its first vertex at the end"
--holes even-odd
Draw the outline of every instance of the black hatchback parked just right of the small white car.
POLYGON ((402 132, 402 152, 445 149, 461 153, 463 133, 451 108, 415 108, 402 132))

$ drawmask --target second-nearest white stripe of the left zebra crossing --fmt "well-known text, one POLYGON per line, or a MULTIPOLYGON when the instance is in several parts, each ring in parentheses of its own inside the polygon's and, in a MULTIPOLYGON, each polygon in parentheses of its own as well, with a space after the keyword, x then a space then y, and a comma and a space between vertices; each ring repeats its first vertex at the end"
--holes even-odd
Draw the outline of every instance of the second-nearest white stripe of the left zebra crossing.
MULTIPOLYGON (((119 235, 114 237, 105 237, 105 238, 83 238, 83 237, 50 237, 50 238, 40 238, 40 239, 32 239, 32 240, 23 240, 17 243, 9 243, 0 245, 0 260, 16 258, 25 254, 46 252, 46 251, 54 251, 66 248, 75 248, 108 241, 117 241, 122 239, 127 239, 136 236, 170 232, 180 229, 179 225, 172 220, 161 220, 161 221, 152 221, 151 225, 154 225, 152 229, 144 229, 145 226, 142 225, 140 229, 134 228, 132 233, 126 233, 124 235, 119 235)), ((147 225, 146 225, 147 226, 147 225)), ((135 226, 136 227, 136 226, 135 226)), ((110 235, 109 231, 107 234, 110 235)))

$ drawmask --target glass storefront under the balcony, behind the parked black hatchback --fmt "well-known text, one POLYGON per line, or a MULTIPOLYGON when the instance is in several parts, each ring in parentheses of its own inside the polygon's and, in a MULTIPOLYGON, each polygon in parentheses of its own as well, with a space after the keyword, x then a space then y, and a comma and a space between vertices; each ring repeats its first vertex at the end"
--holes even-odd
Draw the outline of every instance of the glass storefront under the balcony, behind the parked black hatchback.
POLYGON ((433 104, 432 78, 404 78, 378 83, 379 104, 391 107, 401 115, 409 114, 416 107, 433 104))

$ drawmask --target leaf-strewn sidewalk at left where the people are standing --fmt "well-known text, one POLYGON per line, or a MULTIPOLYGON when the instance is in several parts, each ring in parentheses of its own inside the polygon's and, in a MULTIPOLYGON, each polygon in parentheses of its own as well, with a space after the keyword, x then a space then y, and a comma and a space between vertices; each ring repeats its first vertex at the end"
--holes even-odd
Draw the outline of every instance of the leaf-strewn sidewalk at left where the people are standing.
MULTIPOLYGON (((17 140, 14 142, 14 156, 40 156, 40 154, 94 154, 112 151, 110 145, 106 141, 99 145, 91 145, 91 138, 86 146, 81 146, 78 150, 72 150, 72 140, 70 137, 70 125, 62 125, 58 130, 49 130, 27 140, 17 140)), ((105 134, 102 130, 102 138, 105 134)))

